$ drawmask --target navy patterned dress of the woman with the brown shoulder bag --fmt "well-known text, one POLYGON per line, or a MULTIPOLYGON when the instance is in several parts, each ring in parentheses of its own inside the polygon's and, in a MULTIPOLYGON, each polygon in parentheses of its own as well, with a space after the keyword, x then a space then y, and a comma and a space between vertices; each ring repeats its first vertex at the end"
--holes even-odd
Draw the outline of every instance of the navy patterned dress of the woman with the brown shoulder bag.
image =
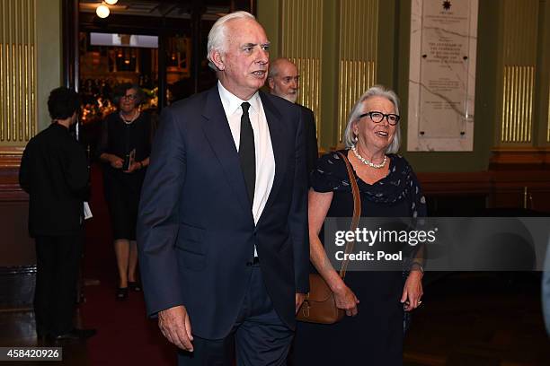
MULTIPOLYGON (((347 155, 348 151, 342 151, 347 155)), ((389 154, 388 175, 370 185, 357 174, 362 217, 421 217, 426 201, 411 166, 389 154)), ((354 172, 355 173, 355 172, 354 172)), ((346 166, 336 153, 317 162, 311 186, 316 192, 333 192, 327 217, 350 217, 353 197, 346 166)), ((323 240, 323 231, 320 233, 323 240)), ((359 299, 358 315, 333 325, 298 322, 292 364, 376 365, 403 364, 402 272, 348 272, 345 283, 359 299)))

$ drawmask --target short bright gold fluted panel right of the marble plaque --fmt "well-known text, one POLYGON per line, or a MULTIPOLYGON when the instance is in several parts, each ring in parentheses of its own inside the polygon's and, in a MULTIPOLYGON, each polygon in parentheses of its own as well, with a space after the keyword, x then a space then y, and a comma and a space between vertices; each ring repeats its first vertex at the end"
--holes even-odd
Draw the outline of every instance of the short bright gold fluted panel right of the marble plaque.
POLYGON ((533 124, 535 66, 504 66, 502 143, 530 143, 533 124))

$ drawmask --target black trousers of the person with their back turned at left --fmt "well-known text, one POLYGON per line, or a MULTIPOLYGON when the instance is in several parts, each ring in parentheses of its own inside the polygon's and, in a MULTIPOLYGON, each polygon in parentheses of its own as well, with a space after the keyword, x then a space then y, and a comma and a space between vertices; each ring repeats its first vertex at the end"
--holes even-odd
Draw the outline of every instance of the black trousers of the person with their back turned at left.
POLYGON ((39 336, 63 335, 73 329, 76 281, 83 233, 36 236, 34 314, 39 336))

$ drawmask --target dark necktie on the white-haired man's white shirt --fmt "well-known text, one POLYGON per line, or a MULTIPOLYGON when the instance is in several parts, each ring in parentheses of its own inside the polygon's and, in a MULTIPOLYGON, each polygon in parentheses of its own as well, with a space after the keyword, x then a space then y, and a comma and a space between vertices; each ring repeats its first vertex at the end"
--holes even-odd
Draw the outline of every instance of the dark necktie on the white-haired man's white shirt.
POLYGON ((254 187, 256 186, 256 153, 254 150, 254 132, 248 116, 250 103, 241 104, 243 116, 241 117, 241 141, 239 143, 239 161, 243 170, 244 183, 250 198, 250 206, 254 202, 254 187))

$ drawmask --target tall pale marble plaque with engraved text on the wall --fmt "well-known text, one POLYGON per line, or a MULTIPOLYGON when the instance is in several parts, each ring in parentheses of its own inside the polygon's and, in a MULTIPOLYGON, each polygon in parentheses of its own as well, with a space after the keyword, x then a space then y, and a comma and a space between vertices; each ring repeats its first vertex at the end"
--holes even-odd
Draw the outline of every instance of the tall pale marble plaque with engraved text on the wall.
POLYGON ((412 0, 408 151, 474 149, 478 0, 412 0))

